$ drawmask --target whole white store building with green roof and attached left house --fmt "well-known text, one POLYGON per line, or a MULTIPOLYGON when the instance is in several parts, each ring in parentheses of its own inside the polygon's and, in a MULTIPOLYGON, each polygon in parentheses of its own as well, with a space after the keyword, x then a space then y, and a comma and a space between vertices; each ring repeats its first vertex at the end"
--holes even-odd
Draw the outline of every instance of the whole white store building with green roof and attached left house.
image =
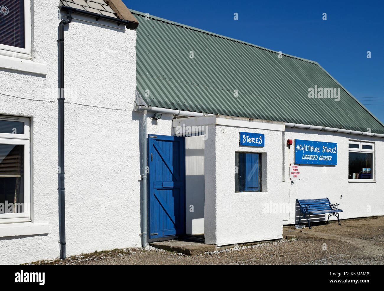
POLYGON ((384 215, 384 125, 318 63, 131 14, 120 0, 18 2, 24 35, 0 43, 0 205, 25 207, 0 206, 1 263, 55 258, 64 245, 56 40, 69 11, 66 256, 181 235, 280 239, 296 199, 328 197, 341 219, 384 215))

